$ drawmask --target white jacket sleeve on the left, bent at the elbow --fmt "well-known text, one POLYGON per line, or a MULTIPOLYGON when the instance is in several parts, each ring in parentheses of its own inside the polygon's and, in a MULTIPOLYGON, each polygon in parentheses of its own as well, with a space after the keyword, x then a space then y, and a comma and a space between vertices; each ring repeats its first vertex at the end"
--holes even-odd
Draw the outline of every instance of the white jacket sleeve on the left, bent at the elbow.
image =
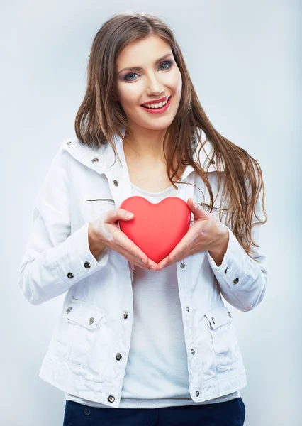
POLYGON ((89 223, 71 234, 70 185, 69 153, 60 148, 35 198, 30 236, 19 270, 18 285, 33 305, 65 293, 108 261, 108 248, 97 259, 90 252, 89 223))

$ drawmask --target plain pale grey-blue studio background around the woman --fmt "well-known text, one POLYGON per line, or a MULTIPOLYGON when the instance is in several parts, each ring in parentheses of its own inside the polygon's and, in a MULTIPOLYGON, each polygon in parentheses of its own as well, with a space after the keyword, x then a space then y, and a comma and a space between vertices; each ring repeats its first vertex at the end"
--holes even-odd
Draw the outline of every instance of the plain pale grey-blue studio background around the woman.
POLYGON ((126 9, 171 26, 213 126, 262 167, 267 293, 251 312, 232 310, 247 371, 245 426, 301 425, 301 5, 289 0, 1 4, 0 424, 62 425, 64 393, 38 373, 64 296, 30 305, 18 267, 35 196, 74 136, 94 35, 126 9))

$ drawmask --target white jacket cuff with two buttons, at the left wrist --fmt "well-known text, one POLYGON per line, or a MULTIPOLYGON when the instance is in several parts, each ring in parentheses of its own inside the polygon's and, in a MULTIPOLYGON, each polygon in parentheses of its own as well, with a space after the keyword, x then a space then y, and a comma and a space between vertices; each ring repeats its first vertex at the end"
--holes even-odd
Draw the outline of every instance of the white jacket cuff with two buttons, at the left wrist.
POLYGON ((104 268, 108 262, 110 249, 105 247, 95 258, 89 249, 89 222, 72 233, 60 246, 57 246, 56 257, 60 259, 55 268, 60 278, 70 286, 96 270, 104 268))

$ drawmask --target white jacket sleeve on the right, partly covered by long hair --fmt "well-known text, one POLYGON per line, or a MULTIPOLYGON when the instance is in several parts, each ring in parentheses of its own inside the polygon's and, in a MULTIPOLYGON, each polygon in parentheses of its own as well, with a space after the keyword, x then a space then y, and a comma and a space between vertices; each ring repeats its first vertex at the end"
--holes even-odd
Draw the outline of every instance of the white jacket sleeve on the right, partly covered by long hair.
MULTIPOLYGON (((255 213, 260 220, 263 220, 262 191, 257 199, 252 223, 259 222, 255 213)), ((260 226, 264 225, 252 227, 252 239, 258 245, 260 226)), ((225 300, 237 309, 247 312, 259 305, 264 297, 267 285, 266 256, 259 250, 259 247, 252 246, 253 254, 250 258, 230 228, 228 226, 227 228, 229 231, 228 248, 221 265, 216 265, 208 251, 206 254, 225 300)))

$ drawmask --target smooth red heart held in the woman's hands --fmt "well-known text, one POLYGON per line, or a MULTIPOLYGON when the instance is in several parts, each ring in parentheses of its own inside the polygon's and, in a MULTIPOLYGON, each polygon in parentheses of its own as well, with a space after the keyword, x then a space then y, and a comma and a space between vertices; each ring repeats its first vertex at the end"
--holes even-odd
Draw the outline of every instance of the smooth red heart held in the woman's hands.
POLYGON ((179 197, 167 197, 157 204, 144 197, 129 197, 120 208, 134 214, 129 221, 119 220, 121 231, 155 263, 171 253, 190 226, 191 210, 179 197))

